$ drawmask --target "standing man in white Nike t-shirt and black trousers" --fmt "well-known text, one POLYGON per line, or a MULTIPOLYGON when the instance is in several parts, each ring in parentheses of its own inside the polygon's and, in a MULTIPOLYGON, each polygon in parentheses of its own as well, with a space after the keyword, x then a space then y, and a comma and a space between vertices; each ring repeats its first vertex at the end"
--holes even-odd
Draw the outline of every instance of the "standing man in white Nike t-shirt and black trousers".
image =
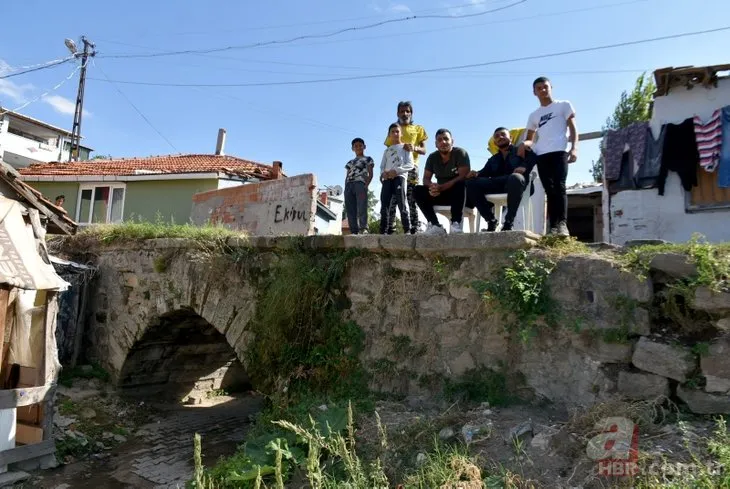
POLYGON ((537 155, 537 172, 545 187, 550 216, 548 234, 570 236, 565 180, 568 178, 568 164, 578 159, 575 110, 567 100, 553 99, 550 80, 544 76, 532 83, 532 91, 540 101, 540 107, 527 120, 527 137, 520 147, 520 156, 524 157, 526 149, 537 155))

